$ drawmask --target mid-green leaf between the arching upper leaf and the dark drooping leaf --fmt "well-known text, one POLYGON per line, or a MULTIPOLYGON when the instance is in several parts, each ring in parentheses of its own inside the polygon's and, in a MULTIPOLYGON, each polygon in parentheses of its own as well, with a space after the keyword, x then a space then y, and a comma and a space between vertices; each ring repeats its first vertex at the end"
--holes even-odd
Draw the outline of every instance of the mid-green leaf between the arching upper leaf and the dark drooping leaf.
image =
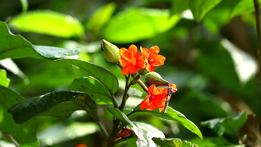
POLYGON ((94 99, 96 104, 112 104, 109 91, 92 76, 74 79, 68 90, 84 92, 94 99))

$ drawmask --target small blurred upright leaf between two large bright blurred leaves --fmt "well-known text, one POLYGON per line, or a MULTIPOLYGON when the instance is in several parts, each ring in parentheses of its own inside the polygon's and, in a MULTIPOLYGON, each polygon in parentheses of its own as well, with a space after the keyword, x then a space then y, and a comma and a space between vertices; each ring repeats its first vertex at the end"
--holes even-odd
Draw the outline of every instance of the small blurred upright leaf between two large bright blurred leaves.
POLYGON ((87 24, 87 28, 92 31, 100 30, 111 18, 116 4, 108 3, 95 11, 90 21, 87 24))

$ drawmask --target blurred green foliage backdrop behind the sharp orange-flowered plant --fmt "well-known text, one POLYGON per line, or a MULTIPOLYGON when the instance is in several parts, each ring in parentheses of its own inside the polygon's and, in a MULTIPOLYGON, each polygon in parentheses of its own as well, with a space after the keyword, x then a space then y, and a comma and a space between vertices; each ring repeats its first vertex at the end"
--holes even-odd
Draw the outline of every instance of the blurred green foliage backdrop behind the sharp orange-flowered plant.
MULTIPOLYGON (((149 49, 157 45, 166 61, 155 72, 178 88, 169 106, 195 123, 203 138, 217 137, 200 122, 235 116, 241 111, 261 115, 254 6, 252 0, 215 0, 216 5, 198 16, 194 1, 28 0, 26 11, 19 0, 1 0, 0 21, 34 45, 81 49, 79 59, 108 68, 119 78, 117 98, 123 93, 124 76, 103 58, 100 40, 119 48, 134 44, 149 49)), ((24 74, 14 74, 4 65, 1 69, 10 78, 9 88, 25 98, 67 90, 74 78, 84 76, 76 68, 52 60, 13 61, 24 74)), ((134 87, 142 91, 138 85, 134 87)), ((135 107, 145 96, 129 98, 127 104, 135 107)), ((112 115, 106 107, 98 105, 98 111, 110 132, 112 115)), ((148 114, 138 113, 130 120, 151 123, 166 138, 198 138, 178 123, 148 114)), ((81 143, 104 147, 104 138, 92 122, 84 112, 75 112, 70 118, 38 117, 41 147, 75 147, 81 143)), ((238 144, 235 134, 223 137, 238 144)), ((1 142, 8 142, 2 134, 1 142)))

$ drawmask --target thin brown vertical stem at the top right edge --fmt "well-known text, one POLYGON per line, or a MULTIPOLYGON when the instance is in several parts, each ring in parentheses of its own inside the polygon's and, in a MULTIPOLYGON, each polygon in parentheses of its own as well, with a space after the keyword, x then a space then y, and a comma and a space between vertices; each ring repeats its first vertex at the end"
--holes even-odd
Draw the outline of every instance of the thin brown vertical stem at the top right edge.
POLYGON ((259 55, 259 76, 261 80, 261 15, 259 0, 254 0, 255 10, 256 10, 256 24, 258 32, 258 55, 259 55))

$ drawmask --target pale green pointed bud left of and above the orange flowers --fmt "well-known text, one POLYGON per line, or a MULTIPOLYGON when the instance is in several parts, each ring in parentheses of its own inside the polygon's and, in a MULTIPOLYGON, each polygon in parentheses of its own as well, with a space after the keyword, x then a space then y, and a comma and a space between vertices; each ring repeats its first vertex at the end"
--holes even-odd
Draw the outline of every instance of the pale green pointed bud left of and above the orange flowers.
POLYGON ((101 50, 103 51, 103 55, 108 62, 117 63, 119 62, 119 48, 110 42, 102 39, 100 41, 101 50))

